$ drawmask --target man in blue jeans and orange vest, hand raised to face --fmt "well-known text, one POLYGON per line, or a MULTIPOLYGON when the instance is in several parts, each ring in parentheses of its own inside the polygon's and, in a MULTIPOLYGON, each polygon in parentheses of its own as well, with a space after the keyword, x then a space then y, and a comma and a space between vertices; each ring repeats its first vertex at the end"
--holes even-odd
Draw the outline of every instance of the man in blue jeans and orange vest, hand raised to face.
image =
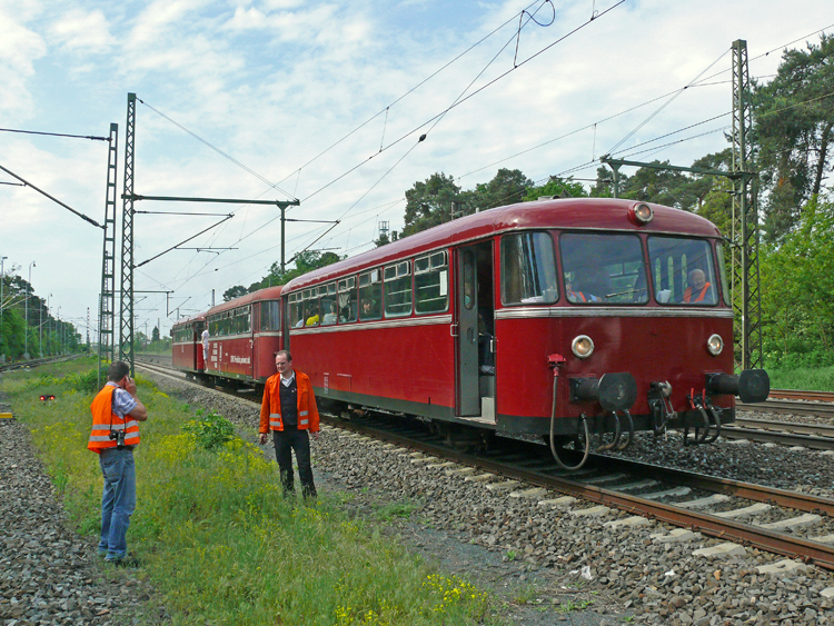
POLYGON ((99 455, 105 478, 99 555, 116 565, 125 564, 128 554, 128 526, 136 508, 133 449, 139 445, 139 423, 148 419, 129 374, 125 361, 110 364, 107 385, 90 405, 92 430, 87 443, 99 455))

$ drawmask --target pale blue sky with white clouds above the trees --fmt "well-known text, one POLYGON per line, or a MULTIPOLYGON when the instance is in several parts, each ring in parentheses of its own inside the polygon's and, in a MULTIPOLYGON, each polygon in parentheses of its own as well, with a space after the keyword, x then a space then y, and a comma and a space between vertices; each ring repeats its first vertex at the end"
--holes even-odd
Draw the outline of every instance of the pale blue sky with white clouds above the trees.
MULTIPOLYGON (((435 172, 471 189, 499 168, 543 183, 593 179, 606 153, 723 150, 732 42, 767 82, 832 27, 830 0, 0 0, 0 166, 101 223, 108 143, 88 138, 118 123, 120 255, 132 92, 135 193, 298 199, 286 217, 318 221, 287 222, 285 258, 355 256, 380 222, 403 229, 405 191, 435 172)), ((0 170, 4 269, 34 262, 36 295, 82 335, 89 310, 96 340, 102 230, 18 183, 0 170)), ((152 211, 133 222, 138 331, 280 261, 275 206, 135 209, 152 211)))

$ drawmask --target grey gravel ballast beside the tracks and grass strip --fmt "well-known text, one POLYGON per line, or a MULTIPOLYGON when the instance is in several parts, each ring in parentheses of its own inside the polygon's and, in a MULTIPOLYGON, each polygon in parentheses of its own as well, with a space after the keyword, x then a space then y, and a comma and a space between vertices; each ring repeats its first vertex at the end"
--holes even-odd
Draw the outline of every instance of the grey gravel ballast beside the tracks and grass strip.
MULTIPOLYGON (((145 376, 163 390, 246 427, 248 438, 255 440, 257 406, 169 377, 145 376)), ((112 614, 96 615, 98 612, 92 608, 112 612, 123 602, 125 585, 96 582, 101 574, 90 563, 95 559, 93 546, 62 529, 66 523, 54 504, 51 484, 31 453, 21 451, 31 449, 21 445, 27 438, 26 429, 10 421, 0 427, 4 435, 0 461, 3 476, 0 495, 3 587, 0 589, 3 598, 10 597, 7 589, 14 590, 16 606, 40 597, 36 593, 48 598, 39 614, 46 620, 12 615, 7 608, 11 603, 0 604, 3 624, 52 624, 52 616, 56 624, 119 624, 112 614), (28 456, 13 456, 24 454, 28 456), (12 463, 29 469, 11 474, 12 463), (34 491, 42 496, 37 503, 24 500, 22 494, 34 491), (37 519, 32 520, 33 516, 37 519), (38 531, 41 540, 31 541, 27 528, 33 525, 42 528, 38 531), (13 533, 20 538, 10 541, 13 533), (52 538, 44 546, 42 537, 49 533, 53 535, 49 535, 52 538), (23 541, 27 538, 29 541, 23 541), (21 547, 30 544, 32 552, 23 553, 21 547), (34 587, 39 592, 31 590, 34 587), (63 608, 58 604, 57 612, 48 613, 59 603, 58 597, 67 593, 77 598, 78 606, 63 608), (81 598, 87 614, 81 610, 81 598), (101 603, 90 604, 92 599, 101 603)), ((755 549, 721 559, 694 556, 694 550, 721 541, 701 537, 687 543, 657 543, 651 538, 652 534, 667 534, 673 528, 656 521, 612 528, 605 524, 625 519, 629 514, 612 510, 600 517, 575 515, 575 509, 593 506, 583 501, 570 508, 543 506, 540 500, 560 494, 517 497, 524 485, 507 490, 489 489, 490 483, 449 475, 453 469, 449 467, 431 467, 439 461, 415 459, 408 451, 396 451, 336 428, 322 431, 312 443, 312 453, 320 491, 351 494, 346 506, 355 515, 369 519, 379 518, 380 511, 386 510, 410 511, 407 518, 385 517, 384 531, 450 572, 492 588, 508 603, 508 618, 517 623, 609 626, 625 622, 698 626, 834 623, 834 602, 823 595, 825 589, 834 587, 834 577, 813 566, 776 576, 763 574, 758 568, 783 557, 755 549)), ((272 453, 267 449, 265 454, 272 453)), ((813 451, 723 440, 708 447, 683 448, 679 437, 665 441, 641 437, 629 456, 828 496, 834 485, 834 459, 813 451)), ((804 529, 803 534, 813 536, 814 530, 804 529)), ((128 596, 149 599, 137 589, 128 589, 128 596)))

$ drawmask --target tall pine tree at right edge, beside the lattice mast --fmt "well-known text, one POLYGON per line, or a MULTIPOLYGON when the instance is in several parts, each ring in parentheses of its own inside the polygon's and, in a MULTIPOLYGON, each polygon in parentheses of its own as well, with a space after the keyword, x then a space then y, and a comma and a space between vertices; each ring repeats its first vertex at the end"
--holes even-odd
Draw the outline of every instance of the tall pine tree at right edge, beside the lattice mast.
POLYGON ((770 191, 765 232, 785 235, 801 207, 822 191, 832 171, 834 140, 834 36, 823 34, 807 50, 785 50, 776 78, 754 86, 753 140, 770 191))

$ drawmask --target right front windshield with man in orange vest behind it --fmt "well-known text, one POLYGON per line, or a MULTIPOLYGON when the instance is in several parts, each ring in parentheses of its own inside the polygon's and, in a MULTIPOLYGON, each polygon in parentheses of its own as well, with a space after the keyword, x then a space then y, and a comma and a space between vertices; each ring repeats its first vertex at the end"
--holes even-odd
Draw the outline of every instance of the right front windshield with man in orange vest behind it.
POLYGON ((659 304, 717 304, 717 281, 708 241, 683 237, 649 237, 648 257, 655 298, 659 304))

